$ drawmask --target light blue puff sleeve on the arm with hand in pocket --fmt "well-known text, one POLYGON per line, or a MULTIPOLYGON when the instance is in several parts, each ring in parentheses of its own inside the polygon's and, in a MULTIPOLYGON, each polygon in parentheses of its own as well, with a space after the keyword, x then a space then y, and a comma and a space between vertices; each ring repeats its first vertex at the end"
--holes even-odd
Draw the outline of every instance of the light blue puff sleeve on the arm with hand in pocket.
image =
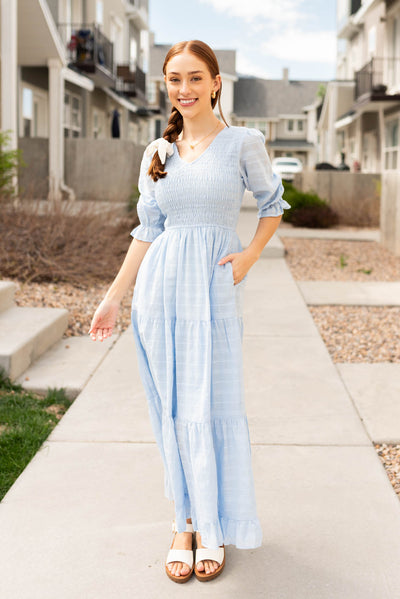
POLYGON ((240 173, 246 189, 257 200, 258 218, 280 216, 285 208, 291 208, 282 197, 282 180, 272 169, 265 137, 258 129, 247 128, 240 153, 240 173))

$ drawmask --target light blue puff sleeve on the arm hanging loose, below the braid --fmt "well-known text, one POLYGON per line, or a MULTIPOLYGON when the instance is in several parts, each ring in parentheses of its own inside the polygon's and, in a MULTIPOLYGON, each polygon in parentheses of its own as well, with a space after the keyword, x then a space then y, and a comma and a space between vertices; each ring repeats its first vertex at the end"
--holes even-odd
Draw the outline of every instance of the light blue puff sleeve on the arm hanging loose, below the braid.
POLYGON ((132 229, 131 235, 140 241, 154 241, 164 231, 166 216, 161 212, 155 197, 155 181, 147 174, 152 158, 143 154, 139 174, 139 201, 137 214, 140 225, 132 229))

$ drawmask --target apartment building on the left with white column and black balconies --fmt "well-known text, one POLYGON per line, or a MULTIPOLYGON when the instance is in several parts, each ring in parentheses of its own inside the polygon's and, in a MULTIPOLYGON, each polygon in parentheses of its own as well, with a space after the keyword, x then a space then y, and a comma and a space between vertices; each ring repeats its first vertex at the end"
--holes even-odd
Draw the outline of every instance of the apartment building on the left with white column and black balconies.
POLYGON ((39 169, 36 193, 73 196, 68 138, 148 142, 148 0, 1 0, 0 19, 1 128, 39 169))

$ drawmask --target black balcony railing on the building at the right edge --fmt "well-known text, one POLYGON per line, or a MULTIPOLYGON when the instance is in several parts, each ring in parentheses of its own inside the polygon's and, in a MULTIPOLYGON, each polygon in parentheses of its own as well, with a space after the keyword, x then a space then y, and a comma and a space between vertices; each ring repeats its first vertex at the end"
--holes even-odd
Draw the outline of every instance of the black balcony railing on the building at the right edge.
POLYGON ((384 95, 388 88, 396 86, 400 89, 400 58, 371 58, 356 72, 355 80, 356 98, 365 94, 384 95))

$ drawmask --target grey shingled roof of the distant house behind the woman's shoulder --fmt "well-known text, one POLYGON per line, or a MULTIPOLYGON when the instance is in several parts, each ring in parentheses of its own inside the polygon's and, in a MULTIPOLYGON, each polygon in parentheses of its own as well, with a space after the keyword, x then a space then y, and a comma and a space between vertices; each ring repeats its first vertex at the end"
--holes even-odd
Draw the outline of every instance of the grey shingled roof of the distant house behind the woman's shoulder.
POLYGON ((291 81, 239 77, 235 82, 234 113, 238 117, 276 118, 280 114, 302 114, 326 81, 291 81))

